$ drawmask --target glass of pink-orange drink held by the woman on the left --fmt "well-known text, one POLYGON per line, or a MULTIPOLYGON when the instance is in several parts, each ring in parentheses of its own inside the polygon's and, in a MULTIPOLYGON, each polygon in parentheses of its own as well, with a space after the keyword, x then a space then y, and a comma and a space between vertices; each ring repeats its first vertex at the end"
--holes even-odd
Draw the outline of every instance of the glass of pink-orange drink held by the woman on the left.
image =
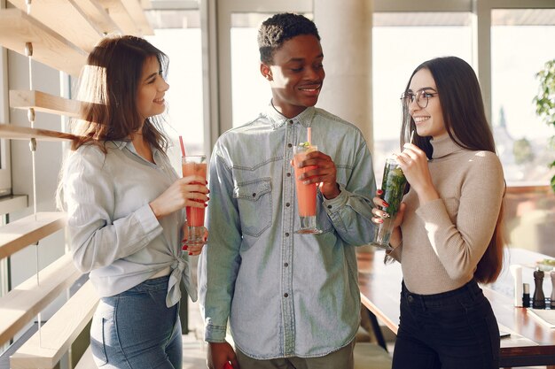
MULTIPOLYGON (((187 155, 181 158, 183 176, 199 175, 207 179, 207 157, 206 155, 187 155)), ((203 244, 204 238, 204 207, 185 207, 187 211, 187 244, 203 244)))

